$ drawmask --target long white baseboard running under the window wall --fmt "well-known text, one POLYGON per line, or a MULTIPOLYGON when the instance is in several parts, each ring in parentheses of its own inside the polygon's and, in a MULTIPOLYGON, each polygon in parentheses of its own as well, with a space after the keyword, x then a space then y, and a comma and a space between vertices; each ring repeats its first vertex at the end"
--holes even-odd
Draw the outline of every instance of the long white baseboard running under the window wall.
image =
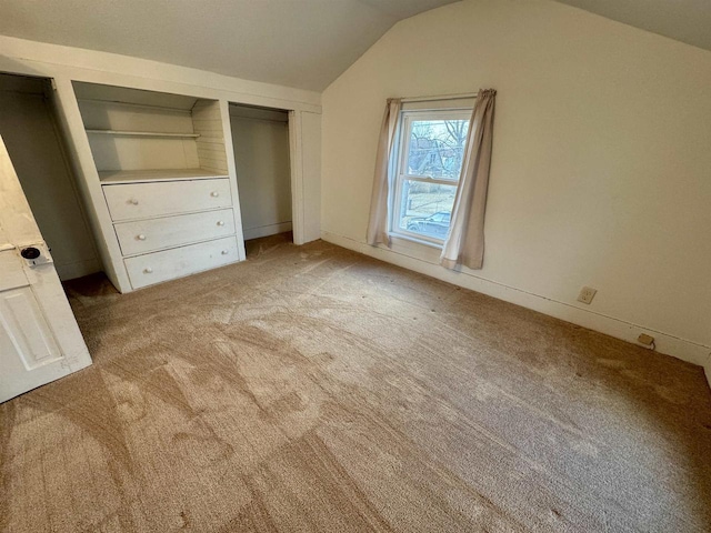
POLYGON ((672 355, 677 359, 681 359, 682 361, 703 366, 709 384, 711 385, 711 346, 680 339, 675 335, 625 322, 620 319, 580 309, 568 303, 551 300, 550 298, 525 292, 483 278, 478 278, 467 272, 453 272, 441 268, 439 264, 414 259, 385 248, 371 247, 364 242, 356 241, 328 231, 323 231, 321 233, 321 238, 327 242, 353 250, 364 255, 437 278, 438 280, 463 286, 472 291, 481 292, 482 294, 511 302, 517 305, 548 314, 549 316, 621 339, 632 344, 639 345, 639 343, 637 343, 637 338, 640 333, 647 333, 654 338, 654 343, 659 353, 672 355))

